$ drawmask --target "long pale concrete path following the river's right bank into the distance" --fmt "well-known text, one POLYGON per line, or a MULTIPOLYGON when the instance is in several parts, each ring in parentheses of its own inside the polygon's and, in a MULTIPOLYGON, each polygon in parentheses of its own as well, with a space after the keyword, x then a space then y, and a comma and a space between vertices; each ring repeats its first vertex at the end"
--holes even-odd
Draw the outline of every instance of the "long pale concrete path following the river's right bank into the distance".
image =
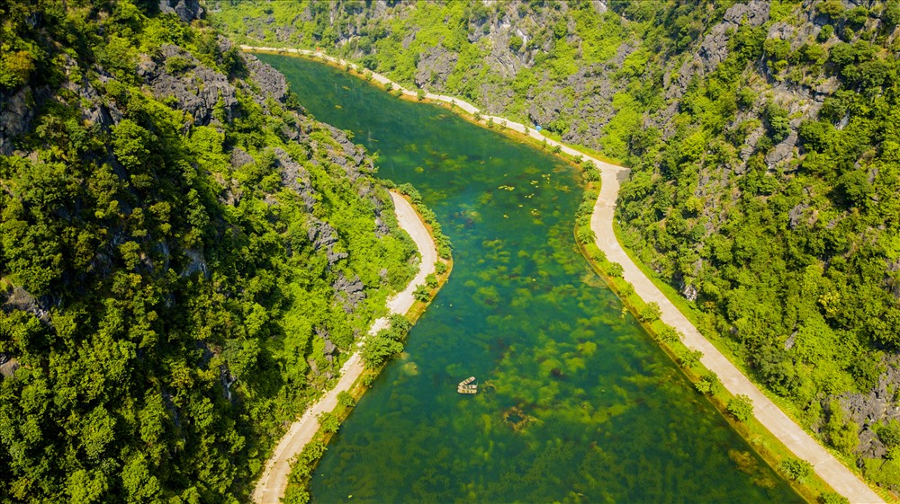
MULTIPOLYGON (((365 73, 360 72, 360 66, 338 57, 331 57, 320 51, 245 45, 241 45, 240 49, 282 55, 293 54, 301 57, 311 57, 313 60, 321 60, 321 62, 327 65, 345 69, 351 74, 364 78, 366 81, 380 84, 386 91, 394 93, 398 97, 401 97, 401 99, 419 102, 438 102, 438 104, 445 106, 449 105, 449 108, 457 113, 459 113, 459 111, 465 111, 466 114, 459 115, 482 127, 493 128, 493 126, 498 126, 501 132, 507 134, 509 134, 509 131, 507 130, 511 130, 515 133, 514 136, 525 135, 530 140, 536 140, 542 145, 553 147, 554 150, 551 151, 553 154, 565 154, 575 160, 581 159, 593 163, 600 172, 601 181, 599 195, 595 201, 593 212, 590 215, 590 230, 595 233, 595 241, 592 244, 596 245, 599 251, 606 254, 608 261, 617 262, 623 267, 623 279, 626 280, 626 283, 634 287, 635 294, 639 296, 644 303, 655 302, 660 305, 662 309, 662 323, 666 323, 683 333, 683 343, 688 349, 699 350, 702 352, 703 356, 699 359, 700 363, 719 377, 728 393, 731 393, 734 396, 739 394, 749 396, 753 403, 752 420, 757 420, 759 426, 762 429, 768 430, 768 434, 783 445, 790 453, 813 464, 815 474, 826 486, 830 486, 834 491, 847 497, 853 503, 885 502, 885 500, 878 496, 876 491, 872 490, 859 475, 853 473, 849 467, 842 464, 842 462, 829 453, 828 450, 812 438, 805 429, 802 429, 797 425, 796 421, 788 417, 784 411, 781 411, 778 405, 772 402, 765 393, 762 393, 757 385, 753 384, 747 376, 744 376, 743 372, 726 358, 710 340, 707 340, 706 337, 697 330, 693 323, 680 312, 678 307, 662 293, 659 287, 656 287, 653 280, 649 279, 635 262, 631 260, 622 244, 618 242, 617 235, 613 230, 619 184, 621 181, 626 180, 628 173, 630 172, 628 168, 586 154, 572 146, 566 146, 553 138, 545 137, 533 128, 527 128, 527 126, 518 122, 496 116, 482 115, 478 108, 464 100, 435 93, 424 93, 419 95, 419 93, 404 88, 401 84, 393 82, 384 75, 368 70, 365 70, 365 73), (388 88, 388 85, 390 85, 390 89, 388 88)), ((581 243, 579 244, 579 249, 582 252, 582 255, 586 255, 584 254, 584 246, 581 245, 581 243)), ((590 258, 588 259, 590 261, 590 258)), ((593 262, 591 261, 591 263, 593 262)), ((626 303, 626 299, 623 296, 620 295, 620 298, 626 303)), ((626 303, 626 305, 628 304, 626 303)), ((662 342, 659 344, 663 349, 666 349, 662 342)), ((716 404, 716 402, 714 402, 714 404, 716 404)), ((716 404, 716 407, 721 411, 719 404, 716 404)), ((753 446, 752 439, 747 435, 747 432, 743 432, 742 429, 736 430, 738 430, 738 432, 747 439, 748 443, 753 446)), ((770 463, 770 465, 773 466, 773 469, 777 470, 777 468, 774 467, 774 464, 770 463)), ((794 482, 790 482, 788 478, 785 478, 785 480, 790 484, 794 484, 794 482)))

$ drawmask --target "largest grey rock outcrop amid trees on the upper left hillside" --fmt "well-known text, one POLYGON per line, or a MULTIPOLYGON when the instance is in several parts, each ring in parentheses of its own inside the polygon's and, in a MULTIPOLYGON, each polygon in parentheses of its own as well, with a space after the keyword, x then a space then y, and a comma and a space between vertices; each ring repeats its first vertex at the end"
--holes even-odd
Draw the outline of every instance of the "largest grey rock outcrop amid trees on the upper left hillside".
POLYGON ((162 65, 148 60, 138 66, 138 75, 157 99, 174 98, 178 108, 190 113, 194 124, 200 126, 211 123, 217 105, 221 105, 226 119, 234 117, 238 99, 227 76, 203 66, 197 58, 176 46, 164 45, 160 51, 164 58, 162 65), (185 68, 173 74, 166 66, 174 67, 175 62, 185 68))

